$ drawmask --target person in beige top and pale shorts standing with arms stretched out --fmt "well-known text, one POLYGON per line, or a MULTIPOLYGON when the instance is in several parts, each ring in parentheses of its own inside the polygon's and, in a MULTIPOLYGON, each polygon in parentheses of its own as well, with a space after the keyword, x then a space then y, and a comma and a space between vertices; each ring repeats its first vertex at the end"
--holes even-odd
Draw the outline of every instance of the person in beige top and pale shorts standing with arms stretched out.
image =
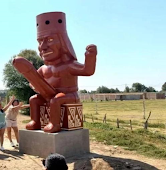
POLYGON ((7 135, 12 147, 14 147, 14 143, 11 138, 11 128, 14 131, 17 144, 19 146, 19 136, 18 136, 18 126, 17 126, 17 115, 19 110, 28 108, 29 104, 24 105, 23 102, 19 102, 18 99, 13 100, 12 105, 6 111, 6 126, 7 126, 7 135))

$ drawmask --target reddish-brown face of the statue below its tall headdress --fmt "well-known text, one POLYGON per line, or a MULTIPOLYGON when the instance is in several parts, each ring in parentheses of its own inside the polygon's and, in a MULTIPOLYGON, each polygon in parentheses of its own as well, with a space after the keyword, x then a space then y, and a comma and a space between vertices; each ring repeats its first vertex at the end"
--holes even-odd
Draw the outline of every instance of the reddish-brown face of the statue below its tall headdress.
POLYGON ((51 62, 60 58, 61 44, 56 34, 38 37, 37 41, 40 56, 44 61, 51 62))

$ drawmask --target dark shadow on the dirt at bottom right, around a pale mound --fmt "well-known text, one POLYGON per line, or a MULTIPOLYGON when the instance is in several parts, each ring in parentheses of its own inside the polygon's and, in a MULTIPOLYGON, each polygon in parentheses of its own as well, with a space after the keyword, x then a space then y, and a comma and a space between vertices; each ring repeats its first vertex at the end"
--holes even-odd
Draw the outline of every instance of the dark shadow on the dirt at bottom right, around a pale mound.
POLYGON ((95 153, 67 159, 74 162, 74 170, 158 170, 147 163, 132 159, 109 157, 95 153))

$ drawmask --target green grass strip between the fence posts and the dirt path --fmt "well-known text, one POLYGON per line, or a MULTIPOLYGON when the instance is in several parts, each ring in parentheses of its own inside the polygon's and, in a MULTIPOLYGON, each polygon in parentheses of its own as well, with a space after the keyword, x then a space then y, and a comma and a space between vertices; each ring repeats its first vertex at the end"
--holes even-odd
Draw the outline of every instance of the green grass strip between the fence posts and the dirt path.
POLYGON ((84 123, 90 130, 92 139, 104 142, 107 145, 118 145, 140 154, 166 159, 166 136, 152 133, 144 129, 134 131, 115 128, 110 124, 84 123))

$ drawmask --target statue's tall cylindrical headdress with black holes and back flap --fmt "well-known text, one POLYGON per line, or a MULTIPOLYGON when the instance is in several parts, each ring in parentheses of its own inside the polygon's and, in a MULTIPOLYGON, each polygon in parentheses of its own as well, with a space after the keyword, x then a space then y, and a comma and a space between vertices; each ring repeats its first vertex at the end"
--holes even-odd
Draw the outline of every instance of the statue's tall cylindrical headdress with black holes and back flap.
POLYGON ((77 59, 66 30, 66 17, 63 12, 49 12, 37 15, 37 37, 57 34, 59 41, 68 54, 77 59))

